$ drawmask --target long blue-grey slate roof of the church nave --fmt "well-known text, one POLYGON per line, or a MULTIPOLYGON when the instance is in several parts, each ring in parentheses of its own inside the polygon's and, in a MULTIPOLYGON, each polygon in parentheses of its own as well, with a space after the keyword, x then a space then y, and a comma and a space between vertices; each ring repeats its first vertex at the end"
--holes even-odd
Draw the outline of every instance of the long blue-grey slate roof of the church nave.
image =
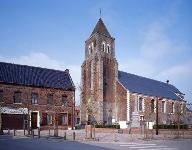
POLYGON ((171 84, 123 71, 118 71, 118 79, 119 82, 132 93, 169 98, 173 100, 180 100, 175 93, 182 94, 175 86, 171 84))

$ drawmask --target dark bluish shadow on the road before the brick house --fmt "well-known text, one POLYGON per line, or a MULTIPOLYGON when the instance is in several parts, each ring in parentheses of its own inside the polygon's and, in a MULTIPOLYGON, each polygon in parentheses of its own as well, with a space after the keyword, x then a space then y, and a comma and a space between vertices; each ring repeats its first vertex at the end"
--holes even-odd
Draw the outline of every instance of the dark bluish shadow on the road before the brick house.
POLYGON ((17 138, 9 135, 0 136, 0 150, 112 150, 109 148, 64 141, 62 139, 17 138))

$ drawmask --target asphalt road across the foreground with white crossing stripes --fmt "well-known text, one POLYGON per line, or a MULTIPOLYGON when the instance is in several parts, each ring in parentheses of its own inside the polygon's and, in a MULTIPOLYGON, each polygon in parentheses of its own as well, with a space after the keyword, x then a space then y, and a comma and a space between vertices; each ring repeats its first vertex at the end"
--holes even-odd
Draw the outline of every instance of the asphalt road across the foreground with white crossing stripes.
POLYGON ((0 136, 0 150, 191 150, 192 140, 151 140, 139 142, 64 141, 53 138, 0 136))

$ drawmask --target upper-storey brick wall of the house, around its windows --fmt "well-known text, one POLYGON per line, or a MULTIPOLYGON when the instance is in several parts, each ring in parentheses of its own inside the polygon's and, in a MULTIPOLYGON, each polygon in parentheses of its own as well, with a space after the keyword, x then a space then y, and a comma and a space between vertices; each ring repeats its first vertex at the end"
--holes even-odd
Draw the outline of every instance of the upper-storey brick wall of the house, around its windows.
MULTIPOLYGON (((0 90, 3 91, 3 107, 11 108, 28 108, 30 111, 39 111, 40 118, 42 119, 43 113, 67 113, 68 117, 72 115, 73 105, 73 91, 64 91, 60 89, 29 87, 20 85, 6 85, 0 84, 0 90), (14 103, 14 92, 21 92, 21 103, 14 103), (38 94, 37 104, 31 104, 31 93, 38 94), (53 94, 53 100, 55 107, 51 104, 47 104, 47 95, 53 94), (67 96, 67 106, 63 106, 62 96, 67 96)), ((69 118, 68 118, 69 120, 69 118)), ((72 119, 68 125, 71 125, 72 119)))

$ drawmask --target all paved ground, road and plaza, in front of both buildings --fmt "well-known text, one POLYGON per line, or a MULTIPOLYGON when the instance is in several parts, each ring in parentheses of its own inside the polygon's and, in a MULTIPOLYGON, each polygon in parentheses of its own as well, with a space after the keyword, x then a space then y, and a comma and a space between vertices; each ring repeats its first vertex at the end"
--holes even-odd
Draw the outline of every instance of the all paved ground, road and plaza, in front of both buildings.
POLYGON ((38 138, 35 131, 34 138, 24 136, 22 130, 13 131, 10 135, 0 136, 0 150, 191 150, 192 139, 148 139, 144 140, 139 134, 118 134, 118 133, 96 133, 96 140, 86 140, 84 130, 75 130, 75 140, 73 140, 73 130, 59 131, 59 137, 55 138, 53 131, 42 131, 38 138), (64 140, 63 135, 67 135, 64 140))

